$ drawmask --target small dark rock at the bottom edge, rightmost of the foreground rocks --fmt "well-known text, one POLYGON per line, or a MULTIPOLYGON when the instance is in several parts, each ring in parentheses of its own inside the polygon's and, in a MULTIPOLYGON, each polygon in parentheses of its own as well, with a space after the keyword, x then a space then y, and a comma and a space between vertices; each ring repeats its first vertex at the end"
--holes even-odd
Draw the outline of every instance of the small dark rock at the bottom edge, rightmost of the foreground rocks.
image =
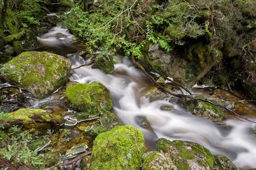
POLYGON ((233 162, 224 155, 214 155, 213 170, 237 170, 233 162))

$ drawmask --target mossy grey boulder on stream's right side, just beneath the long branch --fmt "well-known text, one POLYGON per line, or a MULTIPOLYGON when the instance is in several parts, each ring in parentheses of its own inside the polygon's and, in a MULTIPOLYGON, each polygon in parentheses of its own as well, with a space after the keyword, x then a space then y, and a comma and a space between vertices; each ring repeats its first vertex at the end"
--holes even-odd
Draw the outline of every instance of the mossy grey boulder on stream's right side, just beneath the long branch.
MULTIPOLYGON (((194 94, 193 96, 200 99, 206 99, 201 94, 194 94)), ((224 112, 217 106, 195 99, 183 98, 180 100, 179 105, 187 111, 191 111, 192 114, 207 118, 212 122, 221 121, 224 117, 224 112)))

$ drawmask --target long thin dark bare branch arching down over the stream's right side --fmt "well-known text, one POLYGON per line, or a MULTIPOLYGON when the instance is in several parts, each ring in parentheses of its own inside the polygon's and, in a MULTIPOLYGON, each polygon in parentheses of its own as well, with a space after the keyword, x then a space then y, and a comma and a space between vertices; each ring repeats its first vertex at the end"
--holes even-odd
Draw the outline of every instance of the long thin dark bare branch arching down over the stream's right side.
MULTIPOLYGON (((209 104, 211 104, 211 105, 214 105, 214 106, 216 106, 216 107, 218 107, 218 108, 221 108, 223 111, 227 112, 228 114, 230 114, 230 115, 232 115, 232 116, 234 116, 234 117, 238 116, 238 117, 240 117, 241 119, 247 120, 248 122, 256 123, 256 122, 254 122, 254 121, 252 121, 252 120, 250 120, 250 119, 247 119, 247 118, 245 118, 245 117, 243 117, 243 116, 238 115, 235 111, 232 111, 232 110, 230 110, 229 108, 227 108, 227 107, 225 107, 225 106, 217 105, 217 104, 215 104, 215 103, 210 102, 210 101, 207 100, 207 99, 200 99, 200 98, 196 98, 196 97, 193 97, 193 96, 188 96, 188 95, 185 95, 185 94, 174 94, 174 93, 172 93, 171 91, 167 90, 167 89, 164 88, 162 85, 160 85, 158 82, 156 82, 156 80, 155 80, 150 74, 148 74, 147 71, 145 71, 145 68, 143 68, 142 65, 140 65, 139 63, 137 63, 137 62, 135 61, 134 55, 131 55, 131 59, 132 59, 132 61, 133 61, 133 64, 136 65, 137 67, 139 67, 139 68, 143 71, 143 73, 144 73, 147 77, 150 78, 151 82, 153 82, 155 85, 157 85, 159 88, 161 88, 161 89, 162 89, 163 91, 165 91, 166 93, 169 93, 169 94, 171 94, 172 96, 175 96, 175 97, 178 97, 178 98, 189 98, 189 99, 194 99, 194 100, 198 100, 198 101, 202 101, 202 102, 207 102, 207 103, 209 103, 209 104)), ((236 118, 237 118, 237 117, 236 117, 236 118)), ((238 119, 238 118, 237 118, 237 119, 238 119)), ((239 119, 239 120, 240 120, 240 119, 239 119)), ((242 121, 242 120, 241 120, 241 121, 242 121)))

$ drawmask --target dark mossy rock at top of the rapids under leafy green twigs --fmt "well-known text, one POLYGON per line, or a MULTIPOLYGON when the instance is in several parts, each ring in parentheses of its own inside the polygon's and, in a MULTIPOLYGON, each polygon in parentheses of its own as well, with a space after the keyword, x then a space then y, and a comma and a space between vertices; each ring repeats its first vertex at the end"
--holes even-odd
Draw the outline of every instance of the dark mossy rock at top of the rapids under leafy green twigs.
POLYGON ((105 73, 113 73, 114 72, 114 64, 108 55, 99 55, 96 57, 95 62, 92 68, 99 68, 105 73))

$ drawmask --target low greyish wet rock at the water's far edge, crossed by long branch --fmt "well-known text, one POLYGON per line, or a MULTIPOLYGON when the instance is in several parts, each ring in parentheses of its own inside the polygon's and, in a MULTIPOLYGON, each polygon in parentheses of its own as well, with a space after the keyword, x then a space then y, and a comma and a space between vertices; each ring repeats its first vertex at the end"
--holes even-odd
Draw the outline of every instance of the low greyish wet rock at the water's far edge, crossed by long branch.
MULTIPOLYGON (((167 90, 171 91, 172 93, 182 94, 182 91, 177 86, 168 85, 165 88, 167 90)), ((158 101, 158 100, 163 100, 163 99, 169 98, 172 95, 169 94, 169 93, 166 93, 165 91, 162 91, 162 89, 160 89, 160 88, 152 87, 147 92, 145 92, 145 94, 143 96, 145 96, 146 98, 149 97, 149 101, 150 102, 154 102, 154 101, 158 101)))

